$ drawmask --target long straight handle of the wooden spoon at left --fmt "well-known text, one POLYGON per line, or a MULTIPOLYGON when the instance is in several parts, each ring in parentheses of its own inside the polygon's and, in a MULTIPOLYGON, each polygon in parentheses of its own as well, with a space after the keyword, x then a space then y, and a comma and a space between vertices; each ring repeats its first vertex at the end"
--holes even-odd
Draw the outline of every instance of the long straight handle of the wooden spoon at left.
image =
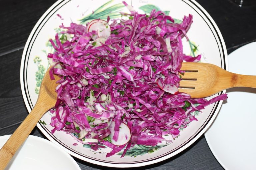
POLYGON ((7 140, 7 142, 0 150, 0 170, 4 170, 4 168, 8 165, 15 152, 24 143, 45 112, 47 112, 47 109, 42 107, 42 103, 37 102, 25 120, 7 140), (39 112, 42 114, 38 114, 39 112))

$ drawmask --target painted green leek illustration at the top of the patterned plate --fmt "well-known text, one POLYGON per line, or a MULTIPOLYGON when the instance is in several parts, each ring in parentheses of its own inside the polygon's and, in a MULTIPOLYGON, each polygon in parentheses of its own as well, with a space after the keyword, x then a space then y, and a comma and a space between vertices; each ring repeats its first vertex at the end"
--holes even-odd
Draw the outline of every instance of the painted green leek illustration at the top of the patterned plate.
POLYGON ((120 12, 122 11, 124 4, 118 3, 115 5, 110 5, 113 0, 110 0, 97 8, 93 11, 93 13, 85 16, 84 18, 80 19, 80 23, 84 24, 85 22, 89 22, 94 19, 107 19, 109 16, 110 18, 118 18, 121 17, 120 12))

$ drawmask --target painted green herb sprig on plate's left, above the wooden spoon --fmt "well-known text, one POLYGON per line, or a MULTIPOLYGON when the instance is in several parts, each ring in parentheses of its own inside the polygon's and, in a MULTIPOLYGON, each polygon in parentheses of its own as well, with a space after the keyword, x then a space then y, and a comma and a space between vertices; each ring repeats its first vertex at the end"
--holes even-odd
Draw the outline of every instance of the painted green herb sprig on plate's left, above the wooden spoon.
POLYGON ((35 87, 35 93, 38 94, 39 93, 39 88, 41 85, 41 82, 44 78, 44 74, 46 72, 46 68, 41 64, 42 60, 36 56, 34 58, 34 63, 37 64, 37 71, 35 74, 36 77, 36 87, 35 87))

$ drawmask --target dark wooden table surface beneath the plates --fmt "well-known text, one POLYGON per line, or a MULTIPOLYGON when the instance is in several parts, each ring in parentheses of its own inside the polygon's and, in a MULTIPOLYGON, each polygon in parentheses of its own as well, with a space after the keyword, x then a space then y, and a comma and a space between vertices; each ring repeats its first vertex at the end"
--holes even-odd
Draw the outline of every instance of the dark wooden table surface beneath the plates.
MULTIPOLYGON (((22 51, 32 28, 55 1, 0 0, 0 2, 0 136, 2 136, 12 134, 28 114, 20 88, 22 51)), ((256 41, 256 6, 240 8, 229 0, 197 0, 197 2, 217 23, 228 53, 256 41)), ((31 135, 46 138, 38 128, 34 128, 31 135)), ((108 169, 76 158, 75 160, 82 170, 108 169)), ((201 136, 192 146, 170 159, 134 169, 223 168, 211 153, 205 137, 201 136)))

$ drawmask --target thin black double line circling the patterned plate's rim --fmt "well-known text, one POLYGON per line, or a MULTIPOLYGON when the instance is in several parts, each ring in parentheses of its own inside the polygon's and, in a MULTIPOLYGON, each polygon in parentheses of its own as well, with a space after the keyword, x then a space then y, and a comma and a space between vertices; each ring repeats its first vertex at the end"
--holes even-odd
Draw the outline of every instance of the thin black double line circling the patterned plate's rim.
MULTIPOLYGON (((61 1, 59 4, 57 4, 49 13, 51 13, 56 7, 58 7, 62 2, 64 2, 65 0, 63 0, 63 1, 61 1)), ((71 0, 69 0, 69 1, 67 1, 65 4, 67 4, 68 2, 70 2, 71 0)), ((187 2, 185 2, 184 0, 182 0, 184 3, 186 3, 187 5, 189 5, 187 2)), ((224 69, 226 69, 226 65, 225 65, 225 52, 224 52, 224 49, 223 49, 223 45, 222 45, 222 41, 221 41, 221 39, 220 39, 220 36, 219 36, 219 34, 218 34, 218 31, 216 30, 216 28, 214 27, 214 25, 213 25, 213 23, 212 23, 212 21, 209 19, 209 17, 205 14, 205 12, 204 11, 202 11, 202 9, 201 8, 199 8, 194 2, 192 2, 191 0, 188 0, 189 2, 191 2, 195 7, 197 7, 197 9, 198 10, 200 10, 203 14, 204 14, 204 17, 206 17, 207 19, 208 19, 208 22, 210 22, 210 24, 212 25, 212 27, 213 27, 213 29, 214 29, 214 31, 215 31, 215 33, 216 33, 216 35, 217 35, 217 37, 218 37, 218 40, 219 40, 219 43, 220 43, 220 45, 221 45, 221 47, 222 47, 222 54, 223 54, 223 60, 224 60, 224 69)), ((63 4, 63 5, 65 5, 65 4, 63 4)), ((62 5, 62 6, 63 6, 62 5)), ((62 6, 60 6, 59 8, 61 8, 62 6)), ((194 9, 191 5, 189 5, 192 9, 194 9)), ((58 9, 59 9, 58 8, 58 9)), ((57 9, 57 10, 58 10, 57 9)), ((56 10, 56 11, 57 11, 56 10)), ((195 9, 194 9, 195 10, 195 9)), ((56 12, 55 11, 55 12, 56 12)), ((196 11, 196 10, 195 10, 196 11)), ((54 13, 55 13, 54 12, 54 13)), ((197 12, 197 11, 196 11, 197 12)), ((32 36, 32 38, 35 36, 35 33, 36 33, 36 31, 38 30, 38 28, 41 26, 41 24, 42 24, 42 22, 47 22, 48 20, 49 20, 49 18, 54 14, 52 14, 46 21, 45 21, 45 18, 47 18, 48 16, 49 16, 49 13, 44 17, 44 19, 40 22, 40 24, 39 24, 39 26, 36 28, 36 30, 35 30, 35 32, 33 33, 33 36, 32 36)), ((198 13, 198 12, 197 12, 198 13)), ((198 13, 199 14, 199 13, 198 13)), ((201 17, 202 17, 202 15, 201 14, 199 14, 201 17)), ((202 19, 205 21, 205 19, 202 17, 202 19)), ((44 23, 44 24, 45 24, 44 23)), ((205 21, 205 23, 208 25, 208 23, 205 21)), ((43 26, 44 26, 44 24, 43 24, 43 26)), ((42 27, 43 27, 42 26, 42 27)), ((40 28, 40 30, 42 29, 42 27, 40 28)), ((208 27, 210 28, 210 26, 208 25, 208 27)), ((39 32, 40 32, 40 30, 39 30, 39 32)), ((211 30, 211 32, 213 33, 213 31, 212 31, 212 29, 210 28, 210 30, 211 30)), ((37 35, 39 34, 39 32, 37 33, 37 35)), ((37 35, 36 35, 36 37, 37 37, 37 35)), ((213 33, 213 35, 214 35, 214 38, 215 38, 215 40, 216 40, 216 42, 217 42, 217 45, 218 45, 218 48, 219 48, 219 43, 218 43, 218 41, 217 41, 217 39, 216 39, 216 37, 215 37, 215 34, 213 33)), ((35 38, 36 38, 35 37, 35 38)), ((32 40, 32 38, 31 38, 31 40, 32 40)), ((29 42, 29 44, 28 44, 28 47, 30 46, 30 44, 31 44, 31 40, 30 40, 30 42, 29 42)), ((34 40, 35 41, 35 40, 34 40)), ((34 43, 34 42, 33 42, 34 43)), ((33 43, 32 43, 32 45, 33 45, 33 43)), ((32 48, 32 47, 31 47, 32 48)), ((31 49, 30 49, 30 51, 31 51, 31 49)), ((30 54, 30 51, 29 51, 29 54, 30 54)), ((219 48, 219 52, 220 52, 220 57, 221 57, 221 51, 220 51, 220 48, 219 48)), ((28 51, 26 51, 26 55, 25 55, 25 58, 24 58, 24 61, 26 61, 26 58, 27 58, 27 53, 28 53, 28 51)), ((28 59, 29 59, 29 55, 28 55, 28 59)), ((222 58, 221 58, 221 66, 222 66, 222 58)), ((27 65, 27 67, 26 67, 26 73, 27 73, 27 69, 28 69, 28 65, 27 65)), ((25 86, 25 82, 28 84, 28 82, 27 82, 27 79, 25 80, 25 64, 24 64, 24 69, 23 69, 23 82, 24 82, 24 88, 26 87, 25 86)), ((28 87, 28 86, 27 86, 28 87)), ((25 90, 26 90, 26 88, 25 88, 25 90)), ((29 96, 29 92, 28 92, 28 89, 26 90, 27 91, 27 93, 28 93, 28 96, 29 96)), ((31 101, 31 99, 30 99, 30 96, 29 96, 29 98, 28 98, 28 96, 27 96, 27 93, 25 93, 26 94, 26 98, 27 98, 27 100, 29 101, 30 100, 30 102, 31 102, 31 105, 32 105, 32 101, 31 101)), ((220 94, 222 94, 223 92, 221 92, 220 94)), ((219 95, 219 94, 218 94, 219 95)), ((32 109, 32 107, 31 107, 31 105, 30 105, 30 103, 28 103, 29 104, 29 106, 30 106, 30 108, 32 109)), ((163 154, 163 155, 160 155, 160 156, 158 156, 158 157, 155 157, 155 158, 151 158, 151 159, 147 159, 147 160, 143 160, 143 161, 136 161, 136 162, 134 162, 134 163, 131 163, 131 162, 126 162, 126 163, 114 163, 114 164, 136 164, 136 163, 143 163, 143 162, 147 162, 147 161, 153 161, 153 160, 156 160, 156 159, 159 159, 159 158, 161 158, 161 157, 164 157, 164 156, 166 156, 166 155, 168 155, 168 154, 171 154, 171 153, 173 153, 173 152, 175 152, 175 151, 177 151, 178 149, 180 149, 182 146, 184 146, 184 145, 186 145, 187 143, 189 143, 191 140, 193 140, 196 136, 197 136, 197 134, 198 133, 200 133, 204 128, 205 128, 205 126, 208 124, 208 122, 211 120, 211 118, 213 117, 213 115, 214 115, 214 113, 215 113, 215 111, 216 111, 216 109, 217 109, 217 107, 218 107, 218 105, 219 105, 219 101, 218 102, 216 102, 215 104, 214 104, 214 106, 213 106, 213 108, 212 108, 212 111, 211 111, 211 114, 208 116, 208 118, 207 118, 207 120, 208 121, 206 121, 205 123, 204 123, 204 125, 202 125, 199 129, 198 129, 198 131, 196 132, 196 133, 194 133, 194 135, 193 136, 191 136, 191 138, 190 139, 188 139, 187 141, 185 141, 185 142, 183 142, 183 144, 182 145, 180 145, 179 147, 176 147, 175 149, 173 149, 173 150, 171 150, 171 151, 169 151, 169 152, 167 152, 167 153, 165 153, 165 154, 163 154), (216 105, 216 106, 215 106, 216 105), (213 110, 214 109, 214 110, 213 110)), ((33 105, 32 105, 33 106, 33 105)), ((62 145, 63 147, 65 147, 66 149, 68 149, 68 150, 70 150, 70 151, 73 151, 73 152, 76 152, 76 151, 74 151, 73 149, 71 149, 70 147, 68 147, 68 146, 66 146, 65 144, 63 144, 61 141, 59 141, 53 134, 51 134, 50 132, 49 132, 49 130, 43 125, 42 126, 42 124, 40 124, 40 126, 42 127, 42 128, 44 128, 45 130, 46 130, 46 132, 49 134, 49 136, 51 136, 52 138, 54 137, 55 138, 55 141, 58 141, 58 143, 60 144, 60 145, 62 145)), ((189 147, 189 146, 188 146, 189 147)), ((86 155, 83 155, 83 154, 80 154, 80 153, 76 153, 76 154, 78 154, 78 155, 80 155, 80 156, 83 156, 83 157, 86 157, 86 158, 88 158, 88 159, 92 159, 92 160, 96 160, 96 161, 99 161, 99 162, 104 162, 104 163, 109 163, 110 161, 102 161, 102 160, 98 160, 98 159, 95 159, 95 158, 91 158, 91 157, 88 157, 88 156, 86 156, 86 155)), ((110 163, 110 164, 112 164, 112 163, 110 163)))

